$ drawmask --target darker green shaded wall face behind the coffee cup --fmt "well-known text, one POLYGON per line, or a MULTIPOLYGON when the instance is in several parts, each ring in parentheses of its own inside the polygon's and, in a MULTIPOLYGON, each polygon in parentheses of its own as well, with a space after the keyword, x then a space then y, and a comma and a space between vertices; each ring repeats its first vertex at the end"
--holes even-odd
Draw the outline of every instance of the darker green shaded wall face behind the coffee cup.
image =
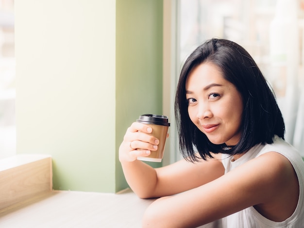
MULTIPOLYGON (((141 114, 162 114, 163 1, 116 3, 116 151, 141 114)), ((118 155, 117 155, 118 159, 118 155)), ((127 187, 117 160, 117 190, 127 187)), ((149 163, 154 167, 161 163, 149 163)))

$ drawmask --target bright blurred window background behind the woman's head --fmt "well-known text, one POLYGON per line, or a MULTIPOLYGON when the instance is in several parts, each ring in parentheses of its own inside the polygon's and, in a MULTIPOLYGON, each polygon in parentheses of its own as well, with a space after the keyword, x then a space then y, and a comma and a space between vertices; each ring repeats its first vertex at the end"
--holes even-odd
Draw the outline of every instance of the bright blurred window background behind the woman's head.
POLYGON ((287 142, 304 156, 304 1, 180 0, 178 7, 180 65, 212 37, 243 46, 276 94, 287 142))

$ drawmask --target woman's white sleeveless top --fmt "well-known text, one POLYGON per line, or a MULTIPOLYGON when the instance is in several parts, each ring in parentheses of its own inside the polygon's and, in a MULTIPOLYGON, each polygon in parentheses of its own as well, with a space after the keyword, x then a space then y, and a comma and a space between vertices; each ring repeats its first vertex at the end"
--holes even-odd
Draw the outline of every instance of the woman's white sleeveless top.
POLYGON ((298 176, 300 195, 298 205, 293 214, 283 222, 273 222, 262 216, 254 207, 249 207, 219 221, 201 226, 202 228, 304 228, 304 162, 300 153, 286 141, 275 136, 273 144, 255 146, 234 162, 232 162, 232 157, 223 154, 222 163, 225 167, 225 173, 270 151, 275 151, 285 156, 298 176))

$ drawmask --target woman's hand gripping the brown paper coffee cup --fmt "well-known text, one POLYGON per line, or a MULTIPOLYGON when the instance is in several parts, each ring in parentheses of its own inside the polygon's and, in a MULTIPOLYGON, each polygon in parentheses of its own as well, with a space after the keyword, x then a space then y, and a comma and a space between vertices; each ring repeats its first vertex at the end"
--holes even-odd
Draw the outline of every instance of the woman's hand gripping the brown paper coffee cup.
POLYGON ((137 157, 145 157, 157 150, 159 140, 150 133, 152 128, 146 124, 134 122, 126 131, 119 147, 119 161, 133 162, 137 157))

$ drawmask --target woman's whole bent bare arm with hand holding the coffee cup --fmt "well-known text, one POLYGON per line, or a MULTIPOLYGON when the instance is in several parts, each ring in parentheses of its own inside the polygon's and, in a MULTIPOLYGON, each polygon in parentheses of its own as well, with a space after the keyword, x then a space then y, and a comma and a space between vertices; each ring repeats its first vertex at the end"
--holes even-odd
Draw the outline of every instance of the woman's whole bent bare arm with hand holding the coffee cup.
POLYGON ((136 160, 138 156, 147 156, 151 150, 156 150, 153 146, 158 144, 157 140, 147 133, 149 133, 147 125, 133 123, 119 147, 119 161, 125 178, 139 197, 174 195, 223 175, 224 168, 220 159, 217 158, 200 163, 181 160, 157 169, 136 160), (130 142, 132 142, 132 148, 143 148, 143 150, 132 149, 130 142))

